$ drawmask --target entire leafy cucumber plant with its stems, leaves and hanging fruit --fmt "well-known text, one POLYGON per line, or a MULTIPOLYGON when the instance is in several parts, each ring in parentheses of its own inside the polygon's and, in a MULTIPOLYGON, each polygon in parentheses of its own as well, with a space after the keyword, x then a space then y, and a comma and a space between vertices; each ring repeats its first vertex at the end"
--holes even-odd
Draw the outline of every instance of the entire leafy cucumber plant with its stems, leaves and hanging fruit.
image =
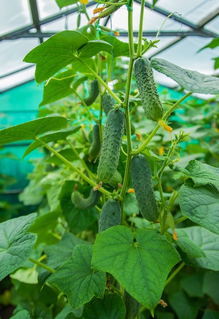
POLYGON ((20 196, 38 191, 39 211, 0 224, 0 279, 9 275, 15 290, 32 291, 32 300, 21 294, 14 302, 15 318, 180 319, 181 304, 191 319, 206 318, 214 313, 207 302, 198 307, 205 294, 218 307, 206 284, 219 271, 218 157, 209 165, 203 153, 193 154, 180 164, 190 132, 172 131, 167 120, 193 92, 218 94, 219 80, 145 58, 158 41, 142 38, 144 4, 137 43, 132 0, 107 2, 93 17, 78 3, 87 24, 79 21, 76 31, 55 34, 24 58, 36 64, 36 82, 47 81, 40 117, 0 130, 0 144, 30 140, 23 156, 43 147, 45 157, 20 196), (129 43, 101 23, 124 5, 129 43), (187 93, 164 103, 153 70, 187 93), (191 293, 186 276, 203 279, 203 295, 191 293), (190 296, 200 298, 192 310, 190 296))

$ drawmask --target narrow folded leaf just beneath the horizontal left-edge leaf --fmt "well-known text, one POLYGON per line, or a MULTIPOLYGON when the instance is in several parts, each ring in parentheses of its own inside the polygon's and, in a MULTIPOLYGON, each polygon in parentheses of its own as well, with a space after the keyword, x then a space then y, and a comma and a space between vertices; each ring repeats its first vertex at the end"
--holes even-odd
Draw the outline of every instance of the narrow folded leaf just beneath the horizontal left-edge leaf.
MULTIPOLYGON (((77 126, 73 126, 73 127, 60 129, 58 131, 49 132, 49 133, 45 134, 44 136, 42 136, 39 140, 43 141, 44 143, 66 140, 66 138, 69 135, 76 133, 80 128, 81 128, 81 125, 77 125, 77 126)), ((27 147, 26 151, 23 154, 23 157, 25 157, 30 152, 32 152, 33 150, 35 150, 36 148, 38 148, 40 146, 42 146, 42 144, 40 144, 37 141, 34 141, 33 143, 31 143, 27 147)))

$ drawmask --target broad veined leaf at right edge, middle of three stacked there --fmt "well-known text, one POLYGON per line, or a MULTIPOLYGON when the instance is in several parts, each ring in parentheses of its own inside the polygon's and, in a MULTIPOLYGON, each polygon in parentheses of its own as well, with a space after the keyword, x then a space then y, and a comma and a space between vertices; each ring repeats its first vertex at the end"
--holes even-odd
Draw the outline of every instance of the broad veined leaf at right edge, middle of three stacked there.
POLYGON ((180 188, 179 205, 183 216, 219 234, 219 194, 213 185, 194 188, 193 182, 186 180, 180 188))

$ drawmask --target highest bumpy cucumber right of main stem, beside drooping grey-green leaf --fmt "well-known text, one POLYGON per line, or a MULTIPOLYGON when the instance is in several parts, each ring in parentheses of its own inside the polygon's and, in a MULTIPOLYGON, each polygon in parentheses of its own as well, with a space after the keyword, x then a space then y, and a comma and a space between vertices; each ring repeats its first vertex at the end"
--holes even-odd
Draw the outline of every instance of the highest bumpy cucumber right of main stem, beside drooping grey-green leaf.
POLYGON ((154 82, 150 61, 147 58, 136 60, 134 74, 145 115, 148 119, 158 122, 164 115, 164 109, 154 82))

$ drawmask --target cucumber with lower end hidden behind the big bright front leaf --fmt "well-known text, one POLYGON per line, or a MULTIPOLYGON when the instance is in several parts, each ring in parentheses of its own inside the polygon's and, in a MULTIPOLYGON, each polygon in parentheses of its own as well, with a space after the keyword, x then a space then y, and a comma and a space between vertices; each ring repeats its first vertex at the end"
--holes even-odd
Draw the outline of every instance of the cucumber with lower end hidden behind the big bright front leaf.
POLYGON ((109 199, 102 207, 99 219, 99 231, 102 232, 112 226, 120 224, 121 207, 119 202, 109 199))

